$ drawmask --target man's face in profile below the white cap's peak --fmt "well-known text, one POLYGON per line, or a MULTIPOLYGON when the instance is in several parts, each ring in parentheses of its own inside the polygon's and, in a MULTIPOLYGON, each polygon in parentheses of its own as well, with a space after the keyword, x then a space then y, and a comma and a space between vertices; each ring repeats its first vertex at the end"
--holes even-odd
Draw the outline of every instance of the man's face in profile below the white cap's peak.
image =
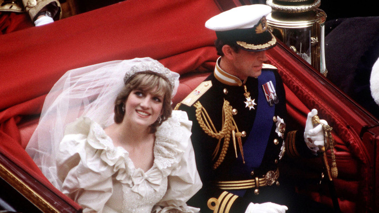
POLYGON ((244 51, 240 50, 234 54, 234 75, 241 80, 247 77, 258 77, 262 71, 262 64, 267 60, 266 51, 244 51))

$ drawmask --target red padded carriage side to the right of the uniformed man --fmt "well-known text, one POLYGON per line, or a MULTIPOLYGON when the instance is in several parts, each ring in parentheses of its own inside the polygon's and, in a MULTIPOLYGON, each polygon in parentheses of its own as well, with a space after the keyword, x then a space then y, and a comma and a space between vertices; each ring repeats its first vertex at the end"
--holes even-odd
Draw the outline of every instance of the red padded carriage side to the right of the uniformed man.
MULTIPOLYGON (((374 190, 378 183, 375 179, 378 169, 374 168, 374 164, 378 162, 378 139, 375 141, 375 137, 378 138, 379 121, 346 97, 320 73, 309 69, 308 63, 303 60, 299 63, 288 48, 271 49, 268 57, 278 68, 287 86, 287 106, 294 121, 304 124, 307 108, 317 108, 320 117, 333 127, 339 169, 339 176, 334 179, 334 184, 342 211, 350 213, 378 210, 378 201, 375 200, 378 191, 374 190), (279 57, 284 58, 276 60, 279 57), (374 138, 362 140, 360 134, 364 132, 363 126, 374 127, 371 135, 374 138)), ((330 162, 329 153, 328 158, 330 162)), ((312 161, 294 163, 304 168, 301 164, 310 166, 310 162, 312 161)), ((319 165, 321 167, 321 161, 319 165)), ((327 190, 316 192, 306 188, 306 193, 316 200, 331 204, 327 190)))

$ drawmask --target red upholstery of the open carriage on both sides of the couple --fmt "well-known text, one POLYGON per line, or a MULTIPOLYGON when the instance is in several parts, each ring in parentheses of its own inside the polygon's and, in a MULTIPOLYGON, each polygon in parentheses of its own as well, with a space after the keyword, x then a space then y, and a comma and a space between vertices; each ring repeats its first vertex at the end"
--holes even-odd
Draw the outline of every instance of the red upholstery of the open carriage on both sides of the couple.
MULTIPOLYGON (((127 0, 50 25, 1 35, 0 154, 69 200, 49 184, 24 151, 54 82, 70 69, 150 56, 182 75, 175 105, 213 70, 217 59, 215 34, 204 27, 205 21, 236 4, 223 0, 219 4, 213 0, 127 0)), ((379 210, 375 200, 378 190, 373 188, 378 189, 379 182, 375 179, 379 129, 371 129, 373 133, 366 132, 360 138, 363 126, 379 122, 284 46, 278 45, 267 55, 283 77, 293 125, 301 128, 309 109, 317 108, 320 117, 334 128, 340 172, 335 185, 342 210, 379 210)), ((321 170, 319 159, 294 163, 296 177, 311 179, 321 170), (316 163, 316 168, 305 169, 310 163, 316 163)), ((310 184, 299 187, 299 192, 331 204, 324 186, 319 190, 320 186, 310 184)))

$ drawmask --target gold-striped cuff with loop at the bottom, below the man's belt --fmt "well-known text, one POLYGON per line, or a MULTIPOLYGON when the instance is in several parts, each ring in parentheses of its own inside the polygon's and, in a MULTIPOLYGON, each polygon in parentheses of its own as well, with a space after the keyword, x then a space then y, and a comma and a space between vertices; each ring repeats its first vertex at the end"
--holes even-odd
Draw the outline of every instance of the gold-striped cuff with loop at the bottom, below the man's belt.
POLYGON ((208 200, 207 206, 213 213, 229 213, 234 201, 238 198, 228 192, 223 192, 219 198, 212 197, 208 200))

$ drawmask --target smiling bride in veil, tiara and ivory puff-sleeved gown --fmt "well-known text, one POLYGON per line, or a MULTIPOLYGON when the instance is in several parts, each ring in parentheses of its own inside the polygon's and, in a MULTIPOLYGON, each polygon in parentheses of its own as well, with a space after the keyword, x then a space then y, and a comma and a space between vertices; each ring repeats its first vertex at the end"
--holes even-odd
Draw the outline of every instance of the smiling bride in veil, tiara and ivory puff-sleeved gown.
POLYGON ((202 186, 191 122, 171 108, 178 78, 151 58, 68 71, 26 150, 83 212, 198 212, 186 205, 202 186))

